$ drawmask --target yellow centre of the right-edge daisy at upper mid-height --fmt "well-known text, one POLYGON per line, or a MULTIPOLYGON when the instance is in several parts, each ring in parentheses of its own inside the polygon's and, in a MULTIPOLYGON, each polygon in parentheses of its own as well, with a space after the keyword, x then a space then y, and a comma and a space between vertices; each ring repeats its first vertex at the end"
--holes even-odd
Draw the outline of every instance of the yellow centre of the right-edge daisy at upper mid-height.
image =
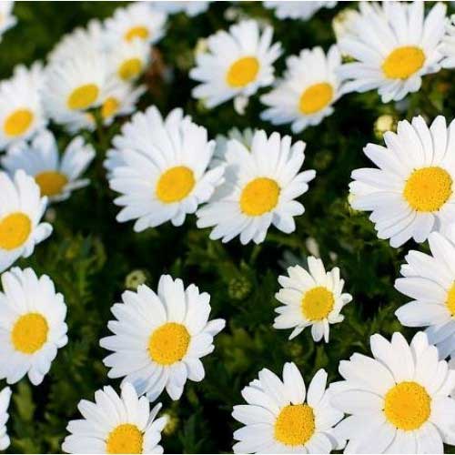
POLYGON ((421 167, 407 180, 403 196, 414 210, 434 212, 452 194, 452 178, 442 167, 421 167))

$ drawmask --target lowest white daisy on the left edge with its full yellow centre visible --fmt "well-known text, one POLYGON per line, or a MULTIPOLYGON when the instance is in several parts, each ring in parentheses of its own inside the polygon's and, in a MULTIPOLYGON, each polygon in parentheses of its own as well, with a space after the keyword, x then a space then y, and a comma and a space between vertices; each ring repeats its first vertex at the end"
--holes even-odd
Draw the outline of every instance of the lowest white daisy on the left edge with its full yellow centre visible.
POLYGON ((32 268, 11 268, 2 275, 0 292, 0 379, 13 384, 26 374, 41 384, 68 342, 66 304, 47 276, 32 268))

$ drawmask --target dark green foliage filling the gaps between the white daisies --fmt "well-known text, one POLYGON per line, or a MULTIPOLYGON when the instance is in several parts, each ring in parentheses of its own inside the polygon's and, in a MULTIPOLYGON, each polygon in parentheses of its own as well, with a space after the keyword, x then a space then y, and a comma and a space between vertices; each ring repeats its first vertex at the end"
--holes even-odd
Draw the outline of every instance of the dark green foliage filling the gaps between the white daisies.
MULTIPOLYGON (((9 76, 16 64, 43 59, 61 35, 76 25, 85 25, 91 17, 111 15, 119 5, 18 3, 15 14, 19 23, 0 44, 0 74, 9 76)), ((211 137, 227 133, 232 126, 289 134, 288 126, 275 128, 259 119, 258 95, 250 100, 244 116, 236 114, 232 103, 207 111, 191 98, 194 84, 187 71, 193 65, 197 40, 227 28, 231 22, 225 12, 234 8, 238 15, 252 15, 274 25, 275 39, 281 41, 287 56, 314 45, 327 49, 335 41, 331 18, 345 6, 323 9, 305 23, 278 21, 254 2, 213 4, 207 14, 195 18, 176 15, 157 45, 162 64, 171 70, 170 80, 157 68, 147 75, 149 89, 140 108, 156 104, 167 114, 181 106, 207 127, 211 137)), ((279 59, 278 73, 284 61, 285 56, 279 59)), ((379 240, 368 216, 349 208, 348 184, 353 169, 369 166, 362 148, 369 141, 378 142, 374 135, 378 116, 410 118, 421 114, 431 119, 443 114, 451 118, 455 89, 450 77, 448 71, 425 76, 422 89, 409 97, 404 111, 397 111, 393 104, 382 105, 374 92, 345 96, 321 125, 295 135, 294 140, 307 142, 305 167, 318 171, 302 198, 306 213, 297 218, 295 233, 285 235, 272 228, 259 246, 243 247, 238 240, 227 245, 211 241, 208 230, 196 228, 195 217, 187 217, 183 227, 168 223, 141 234, 133 232, 131 223, 116 223, 115 195, 108 189, 102 161, 120 122, 93 136, 86 134, 97 152, 96 162, 87 172, 92 184, 48 210, 53 235, 36 248, 32 258, 18 263, 48 274, 65 295, 69 342, 59 350, 42 385, 33 387, 23 379, 13 386, 9 451, 59 452, 67 421, 78 418, 78 401, 93 399, 95 390, 106 384, 118 386, 118 381, 107 379, 102 363, 107 353, 98 340, 108 334, 109 308, 119 300, 133 270, 144 271, 153 288, 163 273, 183 278, 186 284, 196 283, 212 296, 212 318, 227 319, 227 329, 215 340, 214 353, 204 359, 206 379, 187 382, 177 403, 165 394, 160 398, 164 412, 172 416, 172 427, 163 437, 167 452, 231 451, 232 432, 238 428, 230 415, 232 406, 242 402, 240 390, 259 369, 280 372, 284 362, 292 360, 306 380, 319 368, 328 370, 329 380, 336 380, 339 360, 348 359, 354 351, 368 353, 371 334, 389 336, 401 330, 409 337, 412 331, 401 328, 394 316, 406 299, 393 283, 406 251, 415 246, 393 249, 379 240), (354 296, 344 310, 345 321, 331 326, 329 344, 315 344, 309 330, 288 341, 288 330, 272 328, 278 305, 274 298, 277 278, 284 272, 281 264, 306 258, 307 238, 316 239, 328 268, 341 269, 346 290, 354 296)), ((69 139, 61 132, 58 137, 61 143, 69 139)))

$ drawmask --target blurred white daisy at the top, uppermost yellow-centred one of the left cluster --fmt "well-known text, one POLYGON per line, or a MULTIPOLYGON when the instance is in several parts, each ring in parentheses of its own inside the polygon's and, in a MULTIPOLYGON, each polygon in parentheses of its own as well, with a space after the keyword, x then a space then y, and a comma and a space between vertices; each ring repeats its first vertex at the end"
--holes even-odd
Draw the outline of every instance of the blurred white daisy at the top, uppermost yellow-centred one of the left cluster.
POLYGON ((106 30, 113 41, 132 41, 139 38, 154 44, 164 35, 167 15, 151 7, 148 2, 134 2, 117 8, 114 16, 106 19, 106 30))

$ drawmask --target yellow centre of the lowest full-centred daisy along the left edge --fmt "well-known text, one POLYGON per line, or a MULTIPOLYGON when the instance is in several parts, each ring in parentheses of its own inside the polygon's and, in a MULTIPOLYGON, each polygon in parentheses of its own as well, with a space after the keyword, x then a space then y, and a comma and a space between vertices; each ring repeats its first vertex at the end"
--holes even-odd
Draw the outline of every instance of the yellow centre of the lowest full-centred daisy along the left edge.
POLYGON ((43 348, 47 340, 49 326, 39 313, 27 313, 15 321, 11 341, 16 350, 24 354, 34 354, 43 348))

